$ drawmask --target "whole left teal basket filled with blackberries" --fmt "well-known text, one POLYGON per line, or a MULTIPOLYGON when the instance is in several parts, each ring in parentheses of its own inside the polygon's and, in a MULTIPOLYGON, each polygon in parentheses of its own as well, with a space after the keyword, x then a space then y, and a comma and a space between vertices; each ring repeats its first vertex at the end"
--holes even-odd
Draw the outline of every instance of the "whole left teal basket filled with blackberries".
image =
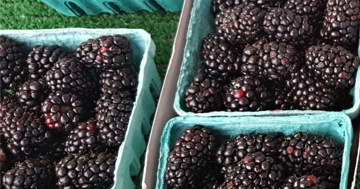
POLYGON ((1 187, 134 188, 161 87, 149 34, 13 30, 0 46, 1 187))

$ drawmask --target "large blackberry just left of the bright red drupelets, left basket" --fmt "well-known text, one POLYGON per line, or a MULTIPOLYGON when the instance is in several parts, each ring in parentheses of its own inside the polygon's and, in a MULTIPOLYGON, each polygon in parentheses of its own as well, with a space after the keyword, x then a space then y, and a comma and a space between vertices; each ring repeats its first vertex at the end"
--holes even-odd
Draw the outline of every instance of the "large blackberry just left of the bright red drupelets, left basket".
POLYGON ((33 114, 24 114, 16 119, 16 122, 13 120, 11 125, 3 126, 1 130, 8 142, 7 148, 18 161, 23 161, 25 157, 45 154, 57 138, 44 121, 35 118, 33 114))

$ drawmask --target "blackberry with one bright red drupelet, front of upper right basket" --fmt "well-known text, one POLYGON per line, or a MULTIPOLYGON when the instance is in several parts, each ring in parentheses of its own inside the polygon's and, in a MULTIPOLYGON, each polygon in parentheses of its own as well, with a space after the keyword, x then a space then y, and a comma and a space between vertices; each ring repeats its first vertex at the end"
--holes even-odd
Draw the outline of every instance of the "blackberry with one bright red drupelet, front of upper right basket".
POLYGON ((241 76, 231 81, 224 94, 225 110, 262 111, 269 108, 270 93, 258 78, 241 76))

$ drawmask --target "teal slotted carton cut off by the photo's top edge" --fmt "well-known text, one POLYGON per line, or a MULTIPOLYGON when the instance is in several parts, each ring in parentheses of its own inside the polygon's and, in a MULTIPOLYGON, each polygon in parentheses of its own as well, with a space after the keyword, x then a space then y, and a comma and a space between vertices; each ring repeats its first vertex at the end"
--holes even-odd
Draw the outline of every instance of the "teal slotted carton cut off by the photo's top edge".
POLYGON ((134 13, 140 10, 154 12, 165 9, 180 11, 184 0, 42 0, 59 13, 67 16, 82 14, 97 15, 100 13, 117 14, 134 13))

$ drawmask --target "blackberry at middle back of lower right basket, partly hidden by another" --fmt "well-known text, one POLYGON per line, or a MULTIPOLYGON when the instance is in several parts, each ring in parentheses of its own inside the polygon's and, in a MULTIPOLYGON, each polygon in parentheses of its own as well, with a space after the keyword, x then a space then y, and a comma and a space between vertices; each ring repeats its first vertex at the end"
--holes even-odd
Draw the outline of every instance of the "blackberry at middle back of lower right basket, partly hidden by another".
POLYGON ((239 134, 216 150, 216 162, 221 165, 221 172, 228 174, 232 167, 248 154, 261 152, 269 157, 279 155, 280 144, 284 138, 279 133, 239 134))

